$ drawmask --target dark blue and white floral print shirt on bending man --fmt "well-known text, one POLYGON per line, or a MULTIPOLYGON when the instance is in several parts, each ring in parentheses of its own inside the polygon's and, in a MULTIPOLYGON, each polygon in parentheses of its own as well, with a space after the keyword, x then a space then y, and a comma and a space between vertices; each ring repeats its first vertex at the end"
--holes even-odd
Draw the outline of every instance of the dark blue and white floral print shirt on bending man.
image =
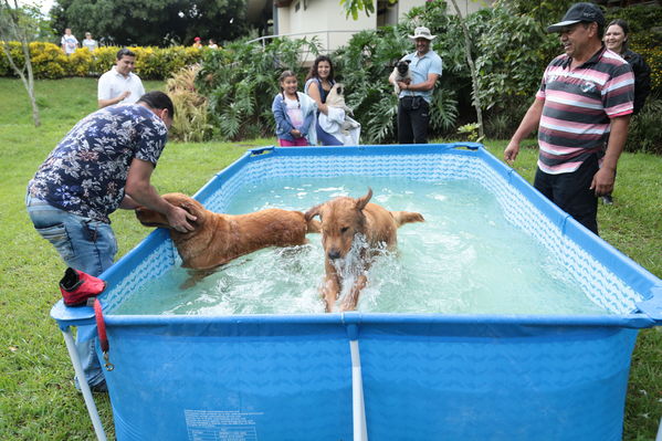
POLYGON ((64 211, 111 223, 124 199, 134 158, 156 167, 168 129, 138 104, 104 107, 71 129, 28 185, 34 198, 64 211))

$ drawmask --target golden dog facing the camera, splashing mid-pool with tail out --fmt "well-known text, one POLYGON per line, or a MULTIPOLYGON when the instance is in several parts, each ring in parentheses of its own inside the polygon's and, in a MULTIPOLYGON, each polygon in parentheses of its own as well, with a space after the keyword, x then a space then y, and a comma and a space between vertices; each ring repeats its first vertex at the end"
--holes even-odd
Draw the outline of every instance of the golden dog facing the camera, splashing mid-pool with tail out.
MULTIPOLYGON (((367 246, 358 250, 358 276, 349 293, 340 305, 340 311, 356 308, 360 291, 367 282, 366 272, 378 246, 395 250, 398 227, 409 222, 423 222, 423 216, 409 211, 388 211, 370 203, 372 190, 362 198, 339 197, 313 207, 306 212, 306 220, 318 216, 322 222, 322 245, 325 253, 326 276, 322 287, 322 296, 326 303, 326 312, 333 306, 343 288, 343 276, 339 265, 350 253, 355 242, 364 240, 367 246)), ((356 249, 356 248, 355 248, 356 249)))

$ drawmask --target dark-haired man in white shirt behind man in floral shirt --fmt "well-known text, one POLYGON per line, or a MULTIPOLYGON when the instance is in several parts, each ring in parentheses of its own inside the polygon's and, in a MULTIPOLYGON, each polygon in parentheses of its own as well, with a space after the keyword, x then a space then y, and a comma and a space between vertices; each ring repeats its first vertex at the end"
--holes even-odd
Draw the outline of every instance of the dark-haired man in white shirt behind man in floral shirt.
POLYGON ((118 103, 133 104, 145 94, 140 77, 133 73, 136 54, 124 48, 117 52, 117 62, 98 78, 98 107, 118 103))

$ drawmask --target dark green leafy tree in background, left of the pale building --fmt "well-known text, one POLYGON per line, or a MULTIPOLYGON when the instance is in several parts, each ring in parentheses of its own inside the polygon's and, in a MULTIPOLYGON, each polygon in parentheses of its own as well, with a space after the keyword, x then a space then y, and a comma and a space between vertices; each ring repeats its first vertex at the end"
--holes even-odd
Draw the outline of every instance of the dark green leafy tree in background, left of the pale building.
POLYGON ((245 10, 244 0, 57 0, 51 17, 59 32, 90 31, 106 44, 169 45, 242 36, 245 10))

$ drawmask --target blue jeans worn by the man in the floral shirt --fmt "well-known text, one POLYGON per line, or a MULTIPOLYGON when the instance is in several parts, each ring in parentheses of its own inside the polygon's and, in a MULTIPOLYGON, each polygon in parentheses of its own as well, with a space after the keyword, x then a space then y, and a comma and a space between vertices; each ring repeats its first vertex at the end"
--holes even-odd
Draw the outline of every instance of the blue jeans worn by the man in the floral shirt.
MULTIPOLYGON (((111 267, 117 242, 108 223, 72 214, 30 195, 25 197, 25 206, 36 232, 55 246, 66 265, 94 276, 111 267)), ((90 386, 105 380, 94 349, 95 342, 96 338, 87 342, 76 338, 76 349, 90 386)))

